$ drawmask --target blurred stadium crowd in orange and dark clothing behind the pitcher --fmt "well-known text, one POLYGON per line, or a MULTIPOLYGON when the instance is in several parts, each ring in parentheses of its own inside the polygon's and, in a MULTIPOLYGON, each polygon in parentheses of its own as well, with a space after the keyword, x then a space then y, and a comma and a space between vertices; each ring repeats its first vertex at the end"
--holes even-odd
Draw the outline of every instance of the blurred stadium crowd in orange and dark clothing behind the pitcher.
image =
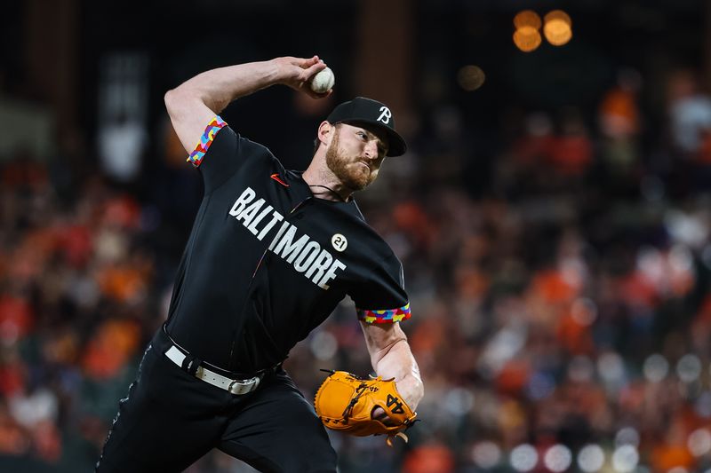
MULTIPOLYGON (((669 75, 651 130, 641 87, 627 71, 596 110, 509 109, 475 171, 440 106, 384 164, 359 201, 403 261, 426 397, 407 445, 334 435, 343 472, 711 471, 711 96, 669 75)), ((74 138, 0 164, 4 471, 92 469, 199 200, 188 164, 112 175, 74 138)), ((352 303, 286 367, 307 398, 318 368, 371 372, 352 303)), ((188 469, 228 471, 251 469, 188 469)))

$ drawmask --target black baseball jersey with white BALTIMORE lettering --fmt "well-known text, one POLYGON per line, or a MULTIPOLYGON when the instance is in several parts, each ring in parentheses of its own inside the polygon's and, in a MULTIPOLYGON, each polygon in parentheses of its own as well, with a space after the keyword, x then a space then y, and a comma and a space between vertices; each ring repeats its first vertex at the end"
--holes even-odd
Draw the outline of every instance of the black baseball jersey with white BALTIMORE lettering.
POLYGON ((402 264, 356 202, 325 201, 220 117, 188 161, 204 198, 180 261, 168 332, 236 373, 284 360, 346 296, 369 323, 410 317, 402 264))

